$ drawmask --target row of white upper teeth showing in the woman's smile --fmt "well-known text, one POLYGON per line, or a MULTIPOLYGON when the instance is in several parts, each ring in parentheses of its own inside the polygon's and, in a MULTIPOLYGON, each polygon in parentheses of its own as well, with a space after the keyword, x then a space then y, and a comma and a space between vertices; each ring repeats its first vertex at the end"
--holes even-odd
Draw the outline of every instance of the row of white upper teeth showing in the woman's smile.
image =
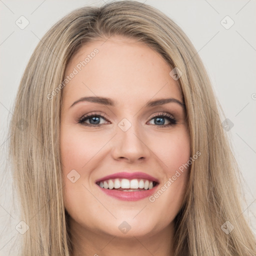
POLYGON ((144 188, 151 189, 153 188, 153 181, 149 181, 147 179, 137 179, 133 178, 131 180, 127 178, 115 178, 115 179, 108 179, 104 181, 100 181, 99 186, 106 189, 118 189, 118 188, 130 188, 130 191, 133 191, 132 189, 138 189, 138 188, 144 188))

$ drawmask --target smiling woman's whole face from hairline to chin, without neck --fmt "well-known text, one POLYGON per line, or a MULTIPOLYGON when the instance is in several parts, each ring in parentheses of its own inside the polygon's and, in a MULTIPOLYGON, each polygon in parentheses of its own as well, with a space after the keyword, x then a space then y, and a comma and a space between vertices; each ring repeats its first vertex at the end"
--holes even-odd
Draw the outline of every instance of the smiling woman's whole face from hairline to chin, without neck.
POLYGON ((71 225, 82 232, 127 237, 173 227, 188 181, 188 168, 177 170, 190 150, 170 71, 146 44, 119 36, 90 42, 69 61, 60 125, 63 196, 71 225))

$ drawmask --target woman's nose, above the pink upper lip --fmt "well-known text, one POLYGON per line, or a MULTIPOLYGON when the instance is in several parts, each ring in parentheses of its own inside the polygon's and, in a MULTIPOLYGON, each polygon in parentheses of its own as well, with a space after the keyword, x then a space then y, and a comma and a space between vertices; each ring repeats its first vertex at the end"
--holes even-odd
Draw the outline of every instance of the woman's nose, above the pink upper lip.
POLYGON ((112 157, 116 160, 122 159, 127 162, 148 159, 150 149, 145 133, 134 124, 126 131, 120 127, 117 126, 117 132, 113 138, 112 157))

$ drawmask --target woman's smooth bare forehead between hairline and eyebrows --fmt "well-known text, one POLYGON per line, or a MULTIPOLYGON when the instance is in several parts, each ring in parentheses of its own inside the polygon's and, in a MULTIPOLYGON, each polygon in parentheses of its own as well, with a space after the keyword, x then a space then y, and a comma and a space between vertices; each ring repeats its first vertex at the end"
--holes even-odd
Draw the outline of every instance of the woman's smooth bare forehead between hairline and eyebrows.
POLYGON ((110 37, 83 45, 72 56, 64 77, 75 73, 63 88, 65 101, 81 96, 105 96, 119 103, 154 97, 182 100, 169 64, 147 44, 126 37, 110 37))

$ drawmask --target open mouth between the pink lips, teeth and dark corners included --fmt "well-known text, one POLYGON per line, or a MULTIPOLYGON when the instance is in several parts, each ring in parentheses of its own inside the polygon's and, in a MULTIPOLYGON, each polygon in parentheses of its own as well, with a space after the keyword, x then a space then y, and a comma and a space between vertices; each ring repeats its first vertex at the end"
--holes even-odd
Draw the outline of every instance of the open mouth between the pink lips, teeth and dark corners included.
POLYGON ((107 179, 96 182, 98 186, 101 188, 109 189, 109 190, 119 190, 119 191, 144 191, 150 190, 158 183, 152 180, 143 179, 143 178, 114 178, 107 179))

